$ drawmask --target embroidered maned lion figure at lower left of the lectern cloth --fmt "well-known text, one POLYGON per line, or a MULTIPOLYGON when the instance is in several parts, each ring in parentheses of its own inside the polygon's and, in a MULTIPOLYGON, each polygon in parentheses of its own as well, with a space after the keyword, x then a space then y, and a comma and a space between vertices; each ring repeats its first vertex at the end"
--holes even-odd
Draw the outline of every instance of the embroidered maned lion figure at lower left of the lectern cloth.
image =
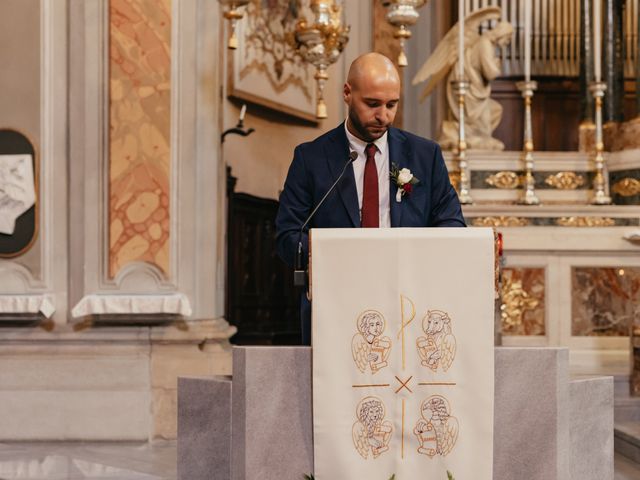
POLYGON ((384 420, 384 416, 384 404, 377 397, 365 397, 358 404, 357 421, 353 424, 351 434, 353 445, 364 459, 368 458, 369 453, 373 458, 378 458, 389 450, 393 425, 384 420))

